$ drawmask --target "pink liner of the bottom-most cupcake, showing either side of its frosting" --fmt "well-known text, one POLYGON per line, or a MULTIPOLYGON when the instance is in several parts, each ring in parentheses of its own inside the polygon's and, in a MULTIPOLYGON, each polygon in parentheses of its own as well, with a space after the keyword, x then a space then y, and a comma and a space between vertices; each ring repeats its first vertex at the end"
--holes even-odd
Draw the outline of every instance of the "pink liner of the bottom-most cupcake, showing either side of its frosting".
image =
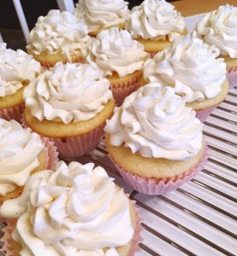
MULTIPOLYGON (((136 229, 134 232, 134 236, 131 241, 130 253, 129 256, 135 256, 137 251, 140 251, 140 247, 138 246, 139 243, 142 241, 141 232, 144 230, 141 224, 141 218, 139 217, 139 211, 136 208, 136 201, 131 201, 133 207, 135 208, 135 215, 136 215, 136 229)), ((0 252, 5 253, 6 256, 18 256, 17 253, 14 252, 13 245, 13 238, 11 236, 14 228, 15 228, 16 220, 10 219, 6 227, 3 229, 3 237, 1 241, 3 241, 4 245, 0 248, 0 252)))

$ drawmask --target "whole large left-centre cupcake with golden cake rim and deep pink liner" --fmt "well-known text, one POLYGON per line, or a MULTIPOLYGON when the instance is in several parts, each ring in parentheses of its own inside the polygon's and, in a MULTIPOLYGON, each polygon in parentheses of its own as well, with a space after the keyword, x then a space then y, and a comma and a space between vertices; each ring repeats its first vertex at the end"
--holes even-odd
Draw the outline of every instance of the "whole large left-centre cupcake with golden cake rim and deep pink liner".
POLYGON ((89 64, 57 63, 26 86, 24 124, 54 141, 62 157, 94 149, 114 108, 102 75, 89 64))

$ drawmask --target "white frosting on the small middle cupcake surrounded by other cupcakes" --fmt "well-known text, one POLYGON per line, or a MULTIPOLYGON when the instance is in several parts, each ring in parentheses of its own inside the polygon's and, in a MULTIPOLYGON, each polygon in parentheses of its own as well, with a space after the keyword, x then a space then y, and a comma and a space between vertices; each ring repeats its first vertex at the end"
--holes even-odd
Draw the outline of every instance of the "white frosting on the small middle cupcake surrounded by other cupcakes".
POLYGON ((143 45, 133 40, 129 32, 112 27, 97 35, 87 61, 95 62, 105 75, 116 72, 123 77, 141 70, 147 56, 143 45))

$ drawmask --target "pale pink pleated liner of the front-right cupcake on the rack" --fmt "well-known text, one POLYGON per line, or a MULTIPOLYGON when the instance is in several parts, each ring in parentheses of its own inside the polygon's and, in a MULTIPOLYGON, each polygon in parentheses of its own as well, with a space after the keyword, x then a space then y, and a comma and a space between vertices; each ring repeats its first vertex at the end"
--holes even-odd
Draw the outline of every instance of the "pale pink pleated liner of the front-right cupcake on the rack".
POLYGON ((146 195, 164 195, 165 193, 171 192, 171 190, 177 189, 183 183, 188 182, 188 180, 192 179, 199 173, 199 171, 203 169, 208 158, 207 151, 208 149, 205 146, 205 153, 203 154, 201 160, 199 160, 199 163, 188 171, 175 177, 159 179, 145 178, 127 172, 117 163, 115 163, 111 155, 109 155, 109 158, 113 161, 114 166, 116 166, 120 175, 124 178, 125 183, 130 185, 131 188, 146 195))

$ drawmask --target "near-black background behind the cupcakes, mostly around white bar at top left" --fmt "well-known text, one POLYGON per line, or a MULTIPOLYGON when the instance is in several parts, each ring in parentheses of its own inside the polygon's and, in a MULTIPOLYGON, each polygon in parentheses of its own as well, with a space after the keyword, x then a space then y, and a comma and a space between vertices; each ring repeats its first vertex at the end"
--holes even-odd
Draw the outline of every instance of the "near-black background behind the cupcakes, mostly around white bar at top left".
MULTIPOLYGON (((78 3, 78 0, 73 1, 78 3)), ((35 25, 38 16, 47 15, 50 9, 59 9, 56 0, 20 0, 20 3, 30 30, 35 25)), ((140 3, 142 1, 130 0, 129 7, 131 9, 140 3)), ((26 40, 12 0, 0 0, 0 33, 3 41, 8 44, 8 48, 25 49, 26 40)))

